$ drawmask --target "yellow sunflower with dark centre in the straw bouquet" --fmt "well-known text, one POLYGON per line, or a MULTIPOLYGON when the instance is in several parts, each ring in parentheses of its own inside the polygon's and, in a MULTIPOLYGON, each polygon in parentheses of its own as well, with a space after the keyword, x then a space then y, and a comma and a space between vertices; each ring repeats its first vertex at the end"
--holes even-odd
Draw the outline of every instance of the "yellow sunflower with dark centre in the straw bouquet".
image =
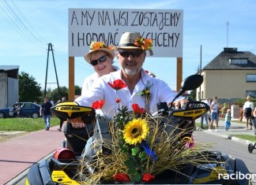
POLYGON ((144 119, 134 119, 129 121, 123 129, 123 139, 130 145, 141 143, 149 134, 149 125, 144 119))

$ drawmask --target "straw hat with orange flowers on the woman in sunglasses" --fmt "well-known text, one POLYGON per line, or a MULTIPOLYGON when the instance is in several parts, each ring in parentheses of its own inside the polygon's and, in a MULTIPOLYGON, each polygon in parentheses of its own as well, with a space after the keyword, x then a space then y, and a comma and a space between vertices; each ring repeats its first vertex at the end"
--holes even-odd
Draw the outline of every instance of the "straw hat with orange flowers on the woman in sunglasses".
POLYGON ((115 57, 113 46, 107 46, 104 42, 92 41, 90 44, 90 49, 89 49, 88 53, 85 54, 85 61, 87 61, 89 64, 91 64, 92 54, 99 50, 106 52, 110 57, 113 57, 113 58, 115 57))

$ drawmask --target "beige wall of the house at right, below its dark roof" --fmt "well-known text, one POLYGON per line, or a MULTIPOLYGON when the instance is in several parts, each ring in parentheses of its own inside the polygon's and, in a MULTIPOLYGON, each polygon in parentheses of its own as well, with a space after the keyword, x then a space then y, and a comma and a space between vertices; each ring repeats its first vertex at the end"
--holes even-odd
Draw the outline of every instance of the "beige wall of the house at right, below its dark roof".
POLYGON ((251 73, 256 73, 256 70, 206 70, 202 72, 201 75, 204 76, 204 82, 201 84, 202 99, 214 96, 228 99, 246 98, 246 91, 256 91, 255 82, 247 83, 247 74, 251 73))

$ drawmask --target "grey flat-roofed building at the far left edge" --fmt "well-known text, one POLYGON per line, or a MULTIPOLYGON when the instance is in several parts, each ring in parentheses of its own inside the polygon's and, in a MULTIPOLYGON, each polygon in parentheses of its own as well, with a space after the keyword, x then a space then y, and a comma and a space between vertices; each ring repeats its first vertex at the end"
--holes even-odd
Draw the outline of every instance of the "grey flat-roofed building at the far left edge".
POLYGON ((18 65, 0 65, 0 108, 19 102, 18 65))

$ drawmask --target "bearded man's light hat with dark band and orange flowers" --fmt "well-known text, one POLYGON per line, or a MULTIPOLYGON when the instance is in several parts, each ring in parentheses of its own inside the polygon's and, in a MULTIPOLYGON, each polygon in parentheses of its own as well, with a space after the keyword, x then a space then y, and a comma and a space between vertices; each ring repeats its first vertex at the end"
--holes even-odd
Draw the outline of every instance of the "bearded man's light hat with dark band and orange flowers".
POLYGON ((119 45, 115 46, 115 50, 119 49, 149 50, 149 54, 152 55, 152 39, 142 38, 137 32, 125 32, 121 36, 119 45))

